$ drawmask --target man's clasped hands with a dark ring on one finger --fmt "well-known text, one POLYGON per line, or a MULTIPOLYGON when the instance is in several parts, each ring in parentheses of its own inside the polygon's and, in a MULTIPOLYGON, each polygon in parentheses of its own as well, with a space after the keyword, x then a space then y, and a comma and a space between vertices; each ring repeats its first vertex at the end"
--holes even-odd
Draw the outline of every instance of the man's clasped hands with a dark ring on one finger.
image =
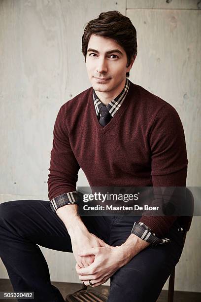
POLYGON ((92 287, 97 287, 125 265, 124 253, 119 246, 110 246, 92 233, 82 235, 80 240, 71 242, 77 261, 75 269, 85 285, 91 280, 92 287))

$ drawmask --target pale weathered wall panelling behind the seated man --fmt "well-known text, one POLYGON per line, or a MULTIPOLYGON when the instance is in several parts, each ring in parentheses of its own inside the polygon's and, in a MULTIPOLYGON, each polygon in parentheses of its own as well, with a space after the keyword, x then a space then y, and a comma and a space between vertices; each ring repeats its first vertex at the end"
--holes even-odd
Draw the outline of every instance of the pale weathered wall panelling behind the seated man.
MULTIPOLYGON (((130 79, 179 113, 189 159, 187 186, 201 186, 201 11, 197 2, 0 1, 0 202, 48 200, 55 118, 61 105, 91 86, 81 37, 87 21, 108 10, 126 14, 136 27, 138 55, 130 79)), ((78 186, 87 185, 80 171, 78 186)), ((175 290, 201 291, 200 246, 201 219, 194 217, 176 266, 175 290)), ((80 282, 72 254, 41 250, 52 281, 80 282)), ((8 278, 2 262, 0 278, 8 278)))

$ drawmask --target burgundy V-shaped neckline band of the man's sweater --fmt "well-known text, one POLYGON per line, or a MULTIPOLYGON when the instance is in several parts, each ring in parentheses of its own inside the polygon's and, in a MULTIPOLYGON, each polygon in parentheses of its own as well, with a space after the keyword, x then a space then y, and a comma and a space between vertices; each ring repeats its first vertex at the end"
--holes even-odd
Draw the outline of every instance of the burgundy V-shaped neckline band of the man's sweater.
POLYGON ((116 123, 116 121, 120 118, 120 116, 124 113, 124 111, 126 110, 128 104, 129 104, 129 99, 131 99, 130 95, 131 95, 132 86, 133 86, 132 82, 130 81, 129 91, 127 92, 124 102, 122 103, 121 107, 117 110, 117 112, 114 114, 112 119, 104 127, 100 125, 99 120, 97 118, 96 109, 95 109, 94 100, 93 100, 93 88, 91 87, 91 91, 89 94, 90 113, 92 115, 92 118, 95 122, 96 127, 99 129, 99 131, 101 133, 105 133, 108 129, 110 129, 116 123))

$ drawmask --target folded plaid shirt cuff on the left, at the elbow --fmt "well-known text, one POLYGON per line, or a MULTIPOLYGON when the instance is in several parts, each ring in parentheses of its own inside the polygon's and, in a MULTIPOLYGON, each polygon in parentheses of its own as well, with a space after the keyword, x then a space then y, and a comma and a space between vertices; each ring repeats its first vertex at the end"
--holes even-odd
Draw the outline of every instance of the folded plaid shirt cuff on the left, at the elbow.
POLYGON ((57 209, 66 204, 78 203, 79 194, 77 191, 61 194, 50 201, 50 208, 56 213, 57 209))

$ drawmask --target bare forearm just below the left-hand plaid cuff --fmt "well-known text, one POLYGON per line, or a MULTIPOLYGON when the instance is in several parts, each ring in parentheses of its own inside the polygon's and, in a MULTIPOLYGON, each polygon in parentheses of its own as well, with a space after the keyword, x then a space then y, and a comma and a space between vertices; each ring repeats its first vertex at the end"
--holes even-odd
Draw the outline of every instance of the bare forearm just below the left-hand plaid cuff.
POLYGON ((70 237, 75 236, 78 232, 89 232, 78 215, 77 207, 77 204, 67 204, 56 211, 56 214, 65 224, 70 237))

